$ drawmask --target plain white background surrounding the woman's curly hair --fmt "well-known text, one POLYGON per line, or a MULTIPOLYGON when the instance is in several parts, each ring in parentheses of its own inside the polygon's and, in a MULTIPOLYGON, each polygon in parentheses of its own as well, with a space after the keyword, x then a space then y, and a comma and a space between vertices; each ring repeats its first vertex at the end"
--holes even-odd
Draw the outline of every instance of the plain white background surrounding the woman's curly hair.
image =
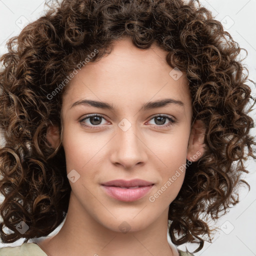
MULTIPOLYGON (((240 47, 248 51, 243 64, 249 69, 249 78, 256 81, 256 0, 201 0, 200 2, 212 11, 215 19, 222 22, 225 30, 240 47)), ((6 40, 17 35, 27 22, 42 15, 43 8, 43 0, 0 0, 0 55, 7 50, 6 40)), ((241 52, 242 56, 245 56, 244 51, 241 52)), ((252 86, 252 83, 249 85, 252 86)), ((253 93, 255 96, 255 88, 253 93)), ((253 119, 255 113, 255 111, 251 113, 253 119)), ((256 134, 255 128, 252 132, 253 135, 256 134)), ((250 184, 251 190, 248 192, 247 189, 240 189, 240 202, 218 220, 219 229, 212 243, 205 242, 203 249, 195 253, 196 256, 256 255, 256 163, 250 160, 247 166, 250 173, 245 176, 245 180, 250 184)), ((50 235, 54 235, 62 224, 50 235)), ((0 243, 0 247, 16 246, 22 242, 23 239, 9 244, 0 243)), ((179 248, 185 249, 184 245, 179 248)))

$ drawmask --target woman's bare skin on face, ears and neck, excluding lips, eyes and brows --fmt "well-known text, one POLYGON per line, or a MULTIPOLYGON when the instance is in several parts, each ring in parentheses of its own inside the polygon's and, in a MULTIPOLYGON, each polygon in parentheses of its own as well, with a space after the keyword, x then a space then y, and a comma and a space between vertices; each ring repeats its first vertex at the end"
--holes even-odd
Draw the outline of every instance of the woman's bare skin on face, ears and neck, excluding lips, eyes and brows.
MULTIPOLYGON (((61 142, 67 174, 75 169, 80 177, 74 183, 69 180, 72 191, 62 228, 38 244, 48 255, 175 255, 167 242, 167 214, 185 172, 153 202, 149 196, 166 184, 186 159, 193 161, 196 152, 203 154, 204 126, 197 120, 191 128, 188 80, 184 73, 178 80, 169 75, 172 67, 166 54, 155 44, 139 49, 130 39, 122 38, 114 42, 109 55, 87 63, 69 82, 61 109, 61 142), (180 100, 183 105, 140 110, 142 104, 163 98, 180 100), (70 108, 81 99, 108 102, 115 109, 70 108), (79 122, 91 113, 103 115, 101 127, 89 118, 79 122), (170 121, 166 118, 161 124, 153 118, 159 114, 176 122, 164 127, 170 121), (131 125, 126 131, 118 126, 123 118, 131 125), (108 196, 100 185, 133 178, 155 184, 146 196, 132 202, 108 196), (121 223, 130 228, 128 232, 119 229, 121 223)), ((56 126, 48 127, 47 139, 52 147, 58 145, 56 126)))

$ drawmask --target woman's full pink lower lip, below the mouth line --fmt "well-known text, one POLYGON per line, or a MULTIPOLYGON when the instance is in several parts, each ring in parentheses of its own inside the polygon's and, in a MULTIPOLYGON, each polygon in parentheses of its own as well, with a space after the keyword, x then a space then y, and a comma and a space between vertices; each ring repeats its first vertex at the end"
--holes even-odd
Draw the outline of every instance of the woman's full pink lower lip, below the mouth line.
POLYGON ((121 188, 118 186, 102 185, 103 189, 108 195, 117 200, 126 202, 131 202, 142 198, 151 190, 152 186, 153 185, 140 186, 137 188, 121 188))

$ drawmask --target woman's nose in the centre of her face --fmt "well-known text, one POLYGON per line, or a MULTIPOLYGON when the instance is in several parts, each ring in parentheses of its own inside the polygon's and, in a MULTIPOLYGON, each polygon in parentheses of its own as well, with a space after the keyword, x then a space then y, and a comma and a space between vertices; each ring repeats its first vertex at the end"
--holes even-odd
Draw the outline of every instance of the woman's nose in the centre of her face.
POLYGON ((142 134, 132 124, 127 130, 117 128, 117 134, 112 139, 112 154, 110 160, 115 165, 132 169, 136 164, 144 164, 147 159, 146 148, 142 134))

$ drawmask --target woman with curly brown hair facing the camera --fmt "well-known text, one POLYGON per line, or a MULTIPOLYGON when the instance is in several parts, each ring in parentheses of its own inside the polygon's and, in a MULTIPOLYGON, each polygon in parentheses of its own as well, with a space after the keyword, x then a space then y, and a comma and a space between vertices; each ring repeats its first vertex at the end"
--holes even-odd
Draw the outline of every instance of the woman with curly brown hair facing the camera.
POLYGON ((167 230, 199 251, 256 158, 228 36, 194 1, 63 0, 9 40, 0 236, 26 240, 0 252, 189 255, 167 230))

